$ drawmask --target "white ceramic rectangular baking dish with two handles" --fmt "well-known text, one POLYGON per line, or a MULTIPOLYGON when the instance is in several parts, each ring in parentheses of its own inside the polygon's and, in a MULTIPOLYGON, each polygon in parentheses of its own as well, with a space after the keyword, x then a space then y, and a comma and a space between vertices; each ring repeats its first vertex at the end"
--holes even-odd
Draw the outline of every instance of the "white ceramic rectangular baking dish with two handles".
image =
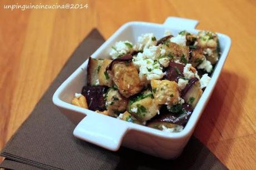
MULTIPOLYGON (((185 18, 169 17, 164 24, 146 22, 128 22, 121 26, 102 46, 95 51, 93 58, 110 58, 111 46, 117 41, 137 41, 142 33, 154 33, 156 38, 163 37, 164 31, 169 29, 174 35, 184 29, 197 33, 194 29, 198 21, 185 18)), ((117 151, 120 146, 135 149, 164 159, 173 159, 183 151, 193 133, 196 123, 213 92, 216 81, 227 58, 231 40, 228 36, 218 33, 221 47, 221 57, 214 69, 211 81, 206 87, 193 114, 183 131, 179 133, 162 132, 157 129, 139 124, 121 121, 88 109, 73 106, 71 103, 75 93, 80 93, 86 82, 88 59, 67 78, 53 95, 53 103, 60 108, 71 121, 78 123, 73 134, 82 140, 96 144, 111 151, 117 151)))

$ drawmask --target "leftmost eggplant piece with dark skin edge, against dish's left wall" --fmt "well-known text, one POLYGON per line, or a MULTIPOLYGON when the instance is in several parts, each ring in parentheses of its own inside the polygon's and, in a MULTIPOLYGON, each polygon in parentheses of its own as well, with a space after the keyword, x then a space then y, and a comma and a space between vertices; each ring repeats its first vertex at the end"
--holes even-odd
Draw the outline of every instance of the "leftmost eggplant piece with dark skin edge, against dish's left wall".
POLYGON ((97 86, 99 84, 98 73, 100 71, 103 59, 89 58, 87 67, 87 85, 97 86))

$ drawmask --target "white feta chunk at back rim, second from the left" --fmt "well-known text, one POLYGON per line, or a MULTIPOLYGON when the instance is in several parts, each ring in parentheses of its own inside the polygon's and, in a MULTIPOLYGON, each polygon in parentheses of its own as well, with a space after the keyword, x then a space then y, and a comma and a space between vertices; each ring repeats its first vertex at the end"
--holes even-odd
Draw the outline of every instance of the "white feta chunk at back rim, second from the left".
POLYGON ((140 51, 144 50, 145 48, 149 48, 150 46, 156 46, 156 41, 154 41, 154 37, 155 36, 153 33, 142 34, 140 37, 138 37, 135 50, 140 51))

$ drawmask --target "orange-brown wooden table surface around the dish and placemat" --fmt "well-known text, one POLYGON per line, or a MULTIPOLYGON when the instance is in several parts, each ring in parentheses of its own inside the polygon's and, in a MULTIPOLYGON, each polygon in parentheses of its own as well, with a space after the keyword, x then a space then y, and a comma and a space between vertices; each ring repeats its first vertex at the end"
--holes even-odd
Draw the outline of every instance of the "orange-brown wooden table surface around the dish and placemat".
POLYGON ((71 3, 0 2, 0 149, 92 28, 109 38, 128 21, 163 23, 178 16, 232 38, 195 136, 228 168, 256 169, 256 1, 72 1, 88 3, 88 9, 3 8, 31 2, 71 3))

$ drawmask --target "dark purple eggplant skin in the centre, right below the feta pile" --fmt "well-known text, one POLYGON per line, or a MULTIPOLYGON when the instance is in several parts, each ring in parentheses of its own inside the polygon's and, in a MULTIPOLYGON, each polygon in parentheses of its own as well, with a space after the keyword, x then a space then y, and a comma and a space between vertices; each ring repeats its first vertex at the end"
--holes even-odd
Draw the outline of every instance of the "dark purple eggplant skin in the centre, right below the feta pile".
POLYGON ((169 66, 165 69, 165 77, 164 79, 167 79, 169 81, 175 81, 178 82, 180 77, 183 76, 183 64, 175 63, 175 62, 169 62, 169 66))

